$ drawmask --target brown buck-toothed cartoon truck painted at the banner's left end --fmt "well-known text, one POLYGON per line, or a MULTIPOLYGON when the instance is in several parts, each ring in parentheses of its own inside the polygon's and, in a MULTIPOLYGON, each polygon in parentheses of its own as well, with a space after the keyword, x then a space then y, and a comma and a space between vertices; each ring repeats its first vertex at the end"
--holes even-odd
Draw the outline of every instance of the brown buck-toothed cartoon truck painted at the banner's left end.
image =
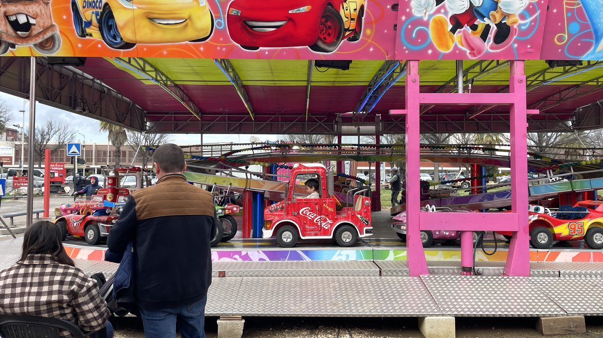
POLYGON ((33 46, 42 54, 60 49, 58 27, 52 20, 49 0, 2 0, 0 54, 17 46, 33 46))

